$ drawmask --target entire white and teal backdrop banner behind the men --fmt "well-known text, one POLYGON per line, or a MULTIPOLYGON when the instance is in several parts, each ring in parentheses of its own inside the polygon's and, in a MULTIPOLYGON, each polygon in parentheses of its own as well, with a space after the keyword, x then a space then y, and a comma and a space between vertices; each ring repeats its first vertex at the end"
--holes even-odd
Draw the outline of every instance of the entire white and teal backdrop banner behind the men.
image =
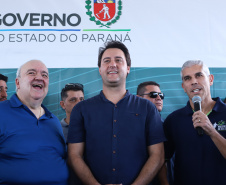
POLYGON ((127 89, 156 81, 165 93, 165 118, 188 98, 180 68, 200 59, 215 75, 213 97, 226 97, 226 2, 224 0, 7 0, 0 6, 0 73, 15 93, 16 68, 42 60, 50 72, 45 106, 61 119, 60 92, 79 82, 85 98, 102 89, 97 68, 99 47, 123 42, 132 59, 127 89))

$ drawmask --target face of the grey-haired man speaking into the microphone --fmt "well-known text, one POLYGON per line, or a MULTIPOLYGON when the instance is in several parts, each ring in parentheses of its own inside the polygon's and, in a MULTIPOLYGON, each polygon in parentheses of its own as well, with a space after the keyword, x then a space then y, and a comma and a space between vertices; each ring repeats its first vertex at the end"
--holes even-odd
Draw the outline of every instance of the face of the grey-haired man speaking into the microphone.
POLYGON ((190 102, 195 95, 200 96, 202 100, 210 100, 210 86, 213 85, 213 79, 213 75, 207 76, 200 65, 184 68, 182 71, 182 87, 190 102))

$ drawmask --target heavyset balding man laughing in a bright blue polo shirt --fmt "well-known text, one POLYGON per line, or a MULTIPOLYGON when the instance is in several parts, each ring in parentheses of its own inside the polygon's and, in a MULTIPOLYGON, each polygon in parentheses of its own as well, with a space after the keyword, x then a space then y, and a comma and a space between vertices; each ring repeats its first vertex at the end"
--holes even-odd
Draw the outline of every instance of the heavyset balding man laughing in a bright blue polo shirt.
POLYGON ((0 103, 0 184, 67 185, 62 128, 42 105, 48 86, 46 66, 29 61, 17 71, 16 94, 0 103))

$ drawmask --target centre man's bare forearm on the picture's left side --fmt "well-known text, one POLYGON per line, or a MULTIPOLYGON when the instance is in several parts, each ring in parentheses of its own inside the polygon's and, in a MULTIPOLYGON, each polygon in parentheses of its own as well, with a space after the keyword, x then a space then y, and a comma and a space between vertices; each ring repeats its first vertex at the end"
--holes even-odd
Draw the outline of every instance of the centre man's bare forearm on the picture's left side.
POLYGON ((100 185, 83 160, 84 146, 85 143, 68 144, 68 163, 84 184, 100 185))

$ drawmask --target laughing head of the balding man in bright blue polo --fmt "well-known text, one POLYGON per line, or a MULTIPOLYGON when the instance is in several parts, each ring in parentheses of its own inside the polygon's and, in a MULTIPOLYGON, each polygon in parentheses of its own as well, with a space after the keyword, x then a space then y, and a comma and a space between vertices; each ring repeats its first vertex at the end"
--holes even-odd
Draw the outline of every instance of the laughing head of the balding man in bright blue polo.
POLYGON ((48 92, 49 74, 46 66, 38 60, 25 63, 16 78, 17 95, 27 104, 30 101, 42 102, 48 92))

